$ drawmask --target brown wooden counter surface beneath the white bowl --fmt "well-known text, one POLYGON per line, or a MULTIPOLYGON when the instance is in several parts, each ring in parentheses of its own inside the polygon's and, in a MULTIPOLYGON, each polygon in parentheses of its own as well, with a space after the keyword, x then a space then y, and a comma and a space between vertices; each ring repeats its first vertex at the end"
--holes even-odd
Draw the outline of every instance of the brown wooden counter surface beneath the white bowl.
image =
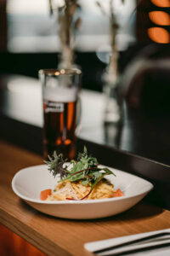
POLYGON ((0 142, 0 222, 48 255, 90 255, 83 244, 170 227, 170 212, 140 202, 132 209, 96 220, 54 218, 37 212, 14 195, 14 173, 42 164, 42 158, 0 142))

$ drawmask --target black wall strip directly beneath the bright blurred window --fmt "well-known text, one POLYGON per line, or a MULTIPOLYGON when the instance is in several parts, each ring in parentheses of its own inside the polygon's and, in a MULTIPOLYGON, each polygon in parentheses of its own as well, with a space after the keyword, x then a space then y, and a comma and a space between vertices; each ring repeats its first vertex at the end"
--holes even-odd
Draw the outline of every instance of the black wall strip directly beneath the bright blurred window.
MULTIPOLYGON (((58 66, 59 55, 56 53, 0 53, 0 73, 16 73, 34 78, 38 70, 58 66)), ((77 53, 77 65, 82 67, 82 87, 90 90, 102 90, 101 76, 105 64, 99 61, 95 53, 77 53)))

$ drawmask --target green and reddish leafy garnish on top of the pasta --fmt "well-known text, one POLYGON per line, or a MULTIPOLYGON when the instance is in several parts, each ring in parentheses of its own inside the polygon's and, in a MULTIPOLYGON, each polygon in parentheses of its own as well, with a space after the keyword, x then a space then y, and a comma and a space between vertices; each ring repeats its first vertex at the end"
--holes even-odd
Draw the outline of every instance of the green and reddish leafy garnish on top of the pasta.
POLYGON ((110 169, 100 168, 98 160, 91 155, 88 155, 86 147, 84 147, 81 154, 78 154, 77 160, 71 160, 69 166, 64 165, 66 160, 63 160, 63 155, 57 155, 55 151, 52 157, 48 155, 48 159, 49 161, 44 162, 48 165, 48 170, 53 173, 54 177, 56 175, 60 176, 59 182, 65 180, 71 182, 82 180, 82 185, 91 185, 90 192, 94 189, 94 186, 105 177, 105 175, 113 174, 116 176, 110 169))

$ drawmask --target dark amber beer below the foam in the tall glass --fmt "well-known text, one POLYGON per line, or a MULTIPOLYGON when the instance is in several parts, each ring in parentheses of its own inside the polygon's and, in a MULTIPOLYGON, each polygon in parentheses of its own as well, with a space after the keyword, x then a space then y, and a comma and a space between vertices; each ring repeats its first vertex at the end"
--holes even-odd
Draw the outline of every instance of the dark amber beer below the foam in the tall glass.
POLYGON ((56 150, 64 158, 71 160, 75 157, 77 102, 43 103, 43 145, 44 158, 48 158, 56 150))

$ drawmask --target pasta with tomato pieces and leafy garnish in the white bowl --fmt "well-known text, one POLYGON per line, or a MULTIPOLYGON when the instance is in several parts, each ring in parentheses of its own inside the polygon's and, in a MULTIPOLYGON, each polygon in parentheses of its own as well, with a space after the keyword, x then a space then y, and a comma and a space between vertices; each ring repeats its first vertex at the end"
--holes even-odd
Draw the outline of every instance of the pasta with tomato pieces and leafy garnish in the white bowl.
POLYGON ((113 184, 105 177, 115 174, 107 167, 100 167, 98 160, 88 155, 86 147, 82 154, 78 154, 77 160, 71 160, 70 163, 66 163, 63 155, 57 155, 55 151, 48 159, 45 161, 48 171, 52 172, 54 177, 59 175, 60 179, 53 191, 41 191, 41 200, 94 200, 123 195, 122 190, 114 189, 113 184))

